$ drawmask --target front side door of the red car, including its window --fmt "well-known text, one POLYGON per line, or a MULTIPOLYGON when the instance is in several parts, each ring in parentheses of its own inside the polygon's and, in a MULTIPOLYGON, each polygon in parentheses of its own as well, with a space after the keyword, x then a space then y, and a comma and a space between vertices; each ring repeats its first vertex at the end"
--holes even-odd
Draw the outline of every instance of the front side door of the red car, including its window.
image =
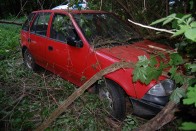
POLYGON ((66 14, 54 14, 50 27, 50 39, 47 41, 46 58, 50 70, 76 85, 81 85, 81 75, 85 62, 82 60, 85 48, 67 44, 67 37, 80 40, 70 17, 66 14))

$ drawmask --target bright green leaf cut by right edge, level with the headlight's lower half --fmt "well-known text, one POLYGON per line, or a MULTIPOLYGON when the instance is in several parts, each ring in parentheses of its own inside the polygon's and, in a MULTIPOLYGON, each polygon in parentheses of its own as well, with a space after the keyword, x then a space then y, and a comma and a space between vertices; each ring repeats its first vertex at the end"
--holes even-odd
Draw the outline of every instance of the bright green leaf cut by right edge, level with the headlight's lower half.
POLYGON ((196 107, 196 85, 194 87, 188 87, 187 89, 187 97, 183 99, 183 104, 191 105, 194 104, 196 107))

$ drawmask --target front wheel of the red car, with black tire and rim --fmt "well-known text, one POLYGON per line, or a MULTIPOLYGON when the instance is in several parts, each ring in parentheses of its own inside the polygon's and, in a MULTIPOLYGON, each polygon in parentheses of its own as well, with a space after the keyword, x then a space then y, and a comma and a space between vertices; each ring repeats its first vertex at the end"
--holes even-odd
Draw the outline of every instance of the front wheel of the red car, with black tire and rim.
POLYGON ((106 80, 98 85, 98 95, 104 101, 106 110, 118 120, 125 118, 126 102, 123 89, 116 83, 106 80))

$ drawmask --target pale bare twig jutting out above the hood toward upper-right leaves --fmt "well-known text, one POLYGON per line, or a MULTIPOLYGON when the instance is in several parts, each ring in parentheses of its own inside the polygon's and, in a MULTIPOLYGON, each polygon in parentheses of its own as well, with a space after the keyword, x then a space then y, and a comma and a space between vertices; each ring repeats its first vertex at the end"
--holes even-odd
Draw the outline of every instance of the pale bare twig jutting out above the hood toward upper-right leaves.
POLYGON ((166 33, 174 34, 174 32, 173 31, 170 31, 170 30, 160 29, 160 28, 155 28, 155 27, 152 27, 152 26, 143 25, 143 24, 134 22, 134 21, 132 21, 130 19, 128 19, 128 21, 131 22, 132 24, 135 24, 135 25, 138 25, 138 26, 147 28, 147 29, 152 29, 152 30, 156 30, 156 31, 160 31, 160 32, 166 32, 166 33))

